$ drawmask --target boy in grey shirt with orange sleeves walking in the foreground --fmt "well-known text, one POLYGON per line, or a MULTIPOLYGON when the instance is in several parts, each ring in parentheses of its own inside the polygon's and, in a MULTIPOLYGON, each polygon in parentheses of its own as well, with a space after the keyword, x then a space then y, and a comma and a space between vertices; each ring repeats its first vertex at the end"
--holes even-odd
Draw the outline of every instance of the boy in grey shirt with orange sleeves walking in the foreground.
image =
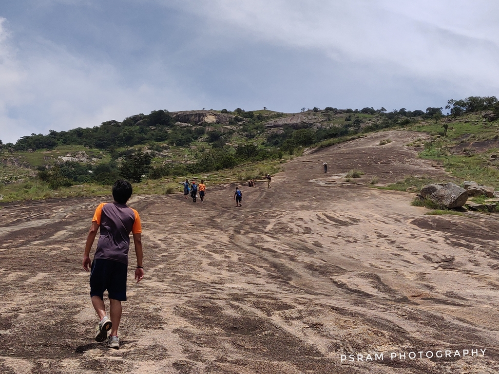
POLYGON ((101 203, 95 209, 92 225, 88 231, 83 268, 90 272, 90 297, 100 322, 97 326, 95 341, 108 341, 110 348, 119 349, 118 326, 121 320, 121 302, 126 301, 126 281, 128 268, 128 250, 130 231, 133 234, 137 268, 137 283, 144 278, 142 263, 142 227, 137 210, 126 205, 132 195, 132 186, 127 181, 119 180, 113 186, 112 203, 101 203), (90 266, 90 249, 100 227, 97 250, 90 266), (104 291, 107 289, 110 303, 109 316, 104 305, 104 291), (107 332, 111 331, 109 339, 107 332))

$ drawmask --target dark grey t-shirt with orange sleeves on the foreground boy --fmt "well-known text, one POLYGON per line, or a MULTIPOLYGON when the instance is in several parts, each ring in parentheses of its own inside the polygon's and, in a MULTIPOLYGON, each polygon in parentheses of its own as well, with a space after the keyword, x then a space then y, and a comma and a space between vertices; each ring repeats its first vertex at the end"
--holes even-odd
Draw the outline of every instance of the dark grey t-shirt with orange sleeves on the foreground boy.
POLYGON ((103 202, 95 209, 93 221, 96 221, 100 227, 94 258, 104 258, 128 265, 130 231, 133 234, 142 232, 137 210, 126 204, 103 202))

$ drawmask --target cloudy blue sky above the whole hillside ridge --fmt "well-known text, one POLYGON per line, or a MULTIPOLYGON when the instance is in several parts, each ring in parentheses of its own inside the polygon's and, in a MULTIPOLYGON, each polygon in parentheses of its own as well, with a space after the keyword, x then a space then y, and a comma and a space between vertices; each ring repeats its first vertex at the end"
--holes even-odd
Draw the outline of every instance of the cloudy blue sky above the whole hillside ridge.
POLYGON ((0 140, 153 110, 499 97, 496 0, 1 0, 0 140))

